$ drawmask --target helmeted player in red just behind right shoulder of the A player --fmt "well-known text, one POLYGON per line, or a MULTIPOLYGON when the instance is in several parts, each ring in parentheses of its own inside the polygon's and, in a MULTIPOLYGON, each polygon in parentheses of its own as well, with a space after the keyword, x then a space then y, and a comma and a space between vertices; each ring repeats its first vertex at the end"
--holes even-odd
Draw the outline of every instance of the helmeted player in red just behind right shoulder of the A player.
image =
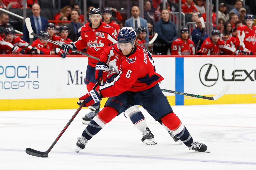
POLYGON ((112 17, 112 10, 108 7, 104 8, 102 12, 102 21, 108 24, 109 26, 111 26, 117 35, 120 31, 120 26, 115 21, 112 21, 111 17, 112 17))

